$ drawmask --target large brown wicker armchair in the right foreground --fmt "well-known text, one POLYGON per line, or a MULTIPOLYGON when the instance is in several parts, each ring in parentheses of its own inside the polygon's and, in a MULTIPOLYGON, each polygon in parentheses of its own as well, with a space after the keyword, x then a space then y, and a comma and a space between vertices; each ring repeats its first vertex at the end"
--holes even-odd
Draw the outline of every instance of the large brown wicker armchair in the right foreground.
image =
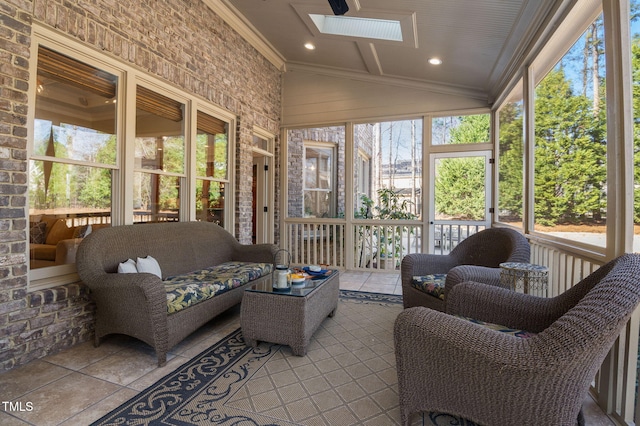
POLYGON ((554 298, 472 282, 449 296, 447 314, 416 307, 396 320, 402 424, 426 411, 481 425, 572 425, 640 302, 640 255, 623 255, 554 298), (519 338, 448 314, 537 334, 519 338))

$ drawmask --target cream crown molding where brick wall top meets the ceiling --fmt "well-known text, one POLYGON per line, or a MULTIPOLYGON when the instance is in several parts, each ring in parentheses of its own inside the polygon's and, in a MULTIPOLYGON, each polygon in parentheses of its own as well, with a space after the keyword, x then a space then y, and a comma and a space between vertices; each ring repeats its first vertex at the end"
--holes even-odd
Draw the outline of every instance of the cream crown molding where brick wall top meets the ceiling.
POLYGON ((286 60, 282 54, 228 0, 202 0, 202 2, 276 68, 280 71, 286 70, 286 60))

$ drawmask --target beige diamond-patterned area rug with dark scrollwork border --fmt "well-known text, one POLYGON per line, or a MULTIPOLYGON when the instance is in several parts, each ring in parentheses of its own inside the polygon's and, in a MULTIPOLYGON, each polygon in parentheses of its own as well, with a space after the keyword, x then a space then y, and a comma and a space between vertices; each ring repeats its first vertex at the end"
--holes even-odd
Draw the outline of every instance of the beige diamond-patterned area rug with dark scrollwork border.
MULTIPOLYGON (((401 311, 400 296, 342 290, 306 356, 247 347, 238 329, 93 424, 399 424, 393 324, 401 311)), ((416 424, 425 423, 472 425, 428 414, 416 424)))

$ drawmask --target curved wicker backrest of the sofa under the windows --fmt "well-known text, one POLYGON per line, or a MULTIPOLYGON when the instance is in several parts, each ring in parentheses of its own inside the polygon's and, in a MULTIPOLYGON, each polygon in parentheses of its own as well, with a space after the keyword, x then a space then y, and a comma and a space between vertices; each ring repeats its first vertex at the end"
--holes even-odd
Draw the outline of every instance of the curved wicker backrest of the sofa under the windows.
POLYGON ((240 243, 210 222, 168 222, 113 226, 92 232, 78 248, 78 273, 117 272, 127 259, 152 256, 162 276, 178 275, 232 260, 240 243))

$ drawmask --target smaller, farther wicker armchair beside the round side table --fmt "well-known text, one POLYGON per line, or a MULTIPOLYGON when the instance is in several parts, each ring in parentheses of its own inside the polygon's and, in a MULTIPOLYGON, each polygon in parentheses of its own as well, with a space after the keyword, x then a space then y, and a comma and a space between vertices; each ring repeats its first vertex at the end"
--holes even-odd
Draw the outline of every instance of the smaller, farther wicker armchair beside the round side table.
POLYGON ((451 288, 463 281, 485 284, 500 283, 499 266, 503 262, 529 262, 529 241, 510 228, 489 228, 469 236, 447 255, 414 253, 405 256, 400 265, 402 300, 405 308, 425 306, 445 310, 451 288), (416 289, 413 277, 447 274, 444 300, 416 289))

